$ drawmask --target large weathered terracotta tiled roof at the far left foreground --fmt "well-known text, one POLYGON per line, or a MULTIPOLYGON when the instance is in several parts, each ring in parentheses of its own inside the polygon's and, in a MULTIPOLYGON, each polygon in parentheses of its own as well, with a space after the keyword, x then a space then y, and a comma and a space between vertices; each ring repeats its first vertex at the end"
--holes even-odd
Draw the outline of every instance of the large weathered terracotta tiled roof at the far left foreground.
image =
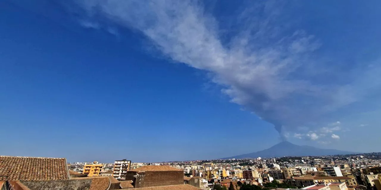
POLYGON ((0 176, 20 181, 69 179, 65 158, 0 156, 0 176))

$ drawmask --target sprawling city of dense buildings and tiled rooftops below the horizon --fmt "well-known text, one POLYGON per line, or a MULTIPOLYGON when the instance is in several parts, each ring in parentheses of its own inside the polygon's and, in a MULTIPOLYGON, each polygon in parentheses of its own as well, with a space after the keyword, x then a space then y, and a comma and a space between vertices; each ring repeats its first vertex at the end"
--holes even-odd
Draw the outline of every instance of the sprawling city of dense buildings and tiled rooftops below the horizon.
POLYGON ((160 163, 0 161, 2 190, 381 190, 381 153, 160 163))

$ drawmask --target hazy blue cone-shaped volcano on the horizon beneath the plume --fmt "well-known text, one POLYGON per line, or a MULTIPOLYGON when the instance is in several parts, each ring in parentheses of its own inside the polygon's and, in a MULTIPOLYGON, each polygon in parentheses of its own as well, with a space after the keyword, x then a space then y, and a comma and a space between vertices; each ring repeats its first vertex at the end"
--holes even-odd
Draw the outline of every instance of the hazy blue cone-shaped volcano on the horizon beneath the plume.
POLYGON ((266 150, 242 154, 222 159, 243 159, 243 158, 270 158, 283 156, 324 156, 324 155, 342 155, 342 154, 359 154, 358 152, 349 152, 335 149, 319 149, 312 146, 299 146, 288 141, 283 141, 266 150))

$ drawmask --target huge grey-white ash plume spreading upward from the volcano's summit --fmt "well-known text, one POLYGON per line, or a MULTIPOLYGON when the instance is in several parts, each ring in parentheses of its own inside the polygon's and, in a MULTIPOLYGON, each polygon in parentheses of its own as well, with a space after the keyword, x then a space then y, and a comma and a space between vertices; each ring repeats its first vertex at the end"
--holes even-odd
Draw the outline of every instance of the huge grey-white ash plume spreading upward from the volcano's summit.
MULTIPOLYGON (((241 27, 228 37, 220 35, 218 18, 197 1, 77 2, 89 19, 102 15, 108 22, 137 30, 174 62, 208 71, 211 81, 221 86, 231 102, 273 123, 280 134, 282 128, 297 130, 320 122, 327 113, 359 101, 371 85, 379 85, 367 82, 364 76, 370 75, 359 75, 345 84, 316 80, 325 78, 327 72, 339 75, 342 71, 327 71, 321 60, 312 59, 321 47, 314 35, 303 30, 283 31, 278 23, 282 10, 272 1, 243 9, 236 20, 241 27)), ((307 136, 319 138, 317 133, 307 136)))

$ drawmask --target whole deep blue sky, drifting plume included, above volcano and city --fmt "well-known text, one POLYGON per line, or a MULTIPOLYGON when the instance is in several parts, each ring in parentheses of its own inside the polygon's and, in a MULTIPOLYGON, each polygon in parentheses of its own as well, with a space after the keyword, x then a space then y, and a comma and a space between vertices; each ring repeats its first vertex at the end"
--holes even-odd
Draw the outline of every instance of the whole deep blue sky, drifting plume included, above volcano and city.
POLYGON ((378 152, 380 17, 378 1, 1 1, 0 154, 378 152))

